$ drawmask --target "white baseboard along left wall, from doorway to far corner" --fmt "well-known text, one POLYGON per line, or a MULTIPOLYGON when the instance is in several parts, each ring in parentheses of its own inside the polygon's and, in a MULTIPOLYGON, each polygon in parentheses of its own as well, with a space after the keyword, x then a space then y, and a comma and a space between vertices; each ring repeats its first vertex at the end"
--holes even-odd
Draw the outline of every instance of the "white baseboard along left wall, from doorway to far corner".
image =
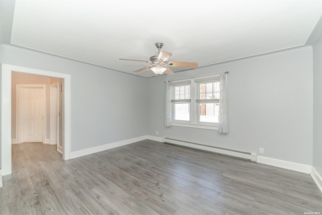
POLYGON ((111 144, 105 144, 105 145, 98 146, 98 147, 93 147, 93 148, 89 148, 89 149, 85 149, 85 150, 79 150, 79 151, 76 151, 76 152, 71 152, 70 153, 70 159, 78 158, 78 157, 82 157, 82 156, 86 156, 86 155, 91 155, 93 153, 102 152, 102 151, 105 151, 105 150, 125 146, 125 145, 128 145, 128 144, 133 144, 134 142, 138 142, 138 141, 141 141, 141 140, 144 140, 144 139, 146 139, 146 136, 139 136, 139 137, 135 137, 135 138, 131 138, 131 139, 125 139, 125 140, 118 141, 118 142, 112 142, 111 144))

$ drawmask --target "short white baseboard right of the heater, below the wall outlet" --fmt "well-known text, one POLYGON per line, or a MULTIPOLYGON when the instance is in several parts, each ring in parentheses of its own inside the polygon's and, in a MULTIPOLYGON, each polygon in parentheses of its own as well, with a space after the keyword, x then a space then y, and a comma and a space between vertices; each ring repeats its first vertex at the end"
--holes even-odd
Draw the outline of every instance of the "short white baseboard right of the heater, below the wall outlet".
POLYGON ((283 161, 283 160, 267 158, 262 156, 257 156, 257 163, 267 164, 274 167, 280 167, 280 168, 293 170, 293 171, 306 173, 306 174, 311 174, 312 172, 312 166, 309 166, 309 165, 293 163, 289 161, 283 161))

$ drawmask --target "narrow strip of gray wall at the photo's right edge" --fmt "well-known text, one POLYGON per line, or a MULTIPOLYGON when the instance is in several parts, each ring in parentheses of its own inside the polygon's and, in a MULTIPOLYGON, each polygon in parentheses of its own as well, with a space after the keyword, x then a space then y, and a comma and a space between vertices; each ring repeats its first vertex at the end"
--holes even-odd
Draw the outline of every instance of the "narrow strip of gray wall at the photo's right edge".
POLYGON ((322 175, 322 18, 307 44, 313 48, 313 167, 322 175))

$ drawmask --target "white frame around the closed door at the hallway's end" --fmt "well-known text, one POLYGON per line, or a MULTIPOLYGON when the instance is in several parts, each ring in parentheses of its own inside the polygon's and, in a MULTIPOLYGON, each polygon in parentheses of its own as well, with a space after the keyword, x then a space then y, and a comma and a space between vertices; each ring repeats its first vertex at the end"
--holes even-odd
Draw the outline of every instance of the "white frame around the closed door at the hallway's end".
POLYGON ((47 111, 46 111, 46 85, 37 85, 37 84, 17 84, 17 91, 16 91, 16 143, 21 144, 24 142, 24 121, 23 121, 23 90, 25 88, 32 88, 32 87, 42 87, 44 90, 44 105, 43 105, 43 128, 42 128, 42 143, 46 143, 46 127, 47 127, 47 111))

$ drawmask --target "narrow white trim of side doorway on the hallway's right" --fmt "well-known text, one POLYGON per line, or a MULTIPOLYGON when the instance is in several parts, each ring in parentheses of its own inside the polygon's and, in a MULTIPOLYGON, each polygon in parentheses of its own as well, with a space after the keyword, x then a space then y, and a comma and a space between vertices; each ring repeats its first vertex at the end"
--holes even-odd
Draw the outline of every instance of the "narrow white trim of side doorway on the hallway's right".
POLYGON ((50 85, 50 118, 49 118, 49 144, 59 144, 59 118, 58 118, 58 110, 59 110, 59 82, 55 82, 50 85), (56 99, 53 101, 53 88, 57 89, 56 99), (55 111, 55 113, 53 113, 55 111), (56 125, 56 126, 54 126, 56 125), (53 135, 55 134, 56 141, 53 142, 53 135))

